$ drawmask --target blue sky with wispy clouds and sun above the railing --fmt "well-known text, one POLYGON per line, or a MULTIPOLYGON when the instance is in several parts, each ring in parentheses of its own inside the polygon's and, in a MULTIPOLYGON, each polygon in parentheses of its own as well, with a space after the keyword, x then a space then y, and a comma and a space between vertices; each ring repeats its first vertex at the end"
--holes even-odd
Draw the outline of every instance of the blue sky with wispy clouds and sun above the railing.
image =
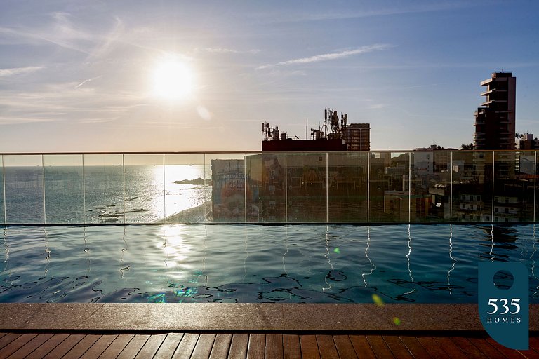
POLYGON ((324 109, 371 150, 473 141, 492 72, 539 137, 539 1, 0 2, 0 153, 260 151, 324 109))

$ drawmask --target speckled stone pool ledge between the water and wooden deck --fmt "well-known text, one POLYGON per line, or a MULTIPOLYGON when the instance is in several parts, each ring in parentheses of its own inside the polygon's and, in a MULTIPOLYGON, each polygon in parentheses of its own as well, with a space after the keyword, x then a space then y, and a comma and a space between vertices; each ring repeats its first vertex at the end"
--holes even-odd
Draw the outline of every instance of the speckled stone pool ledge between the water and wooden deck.
MULTIPOLYGON (((0 304, 0 330, 483 331, 477 304, 0 304), (398 318, 395 324, 395 319, 398 318)), ((539 304, 530 306, 539 330, 539 304)))

